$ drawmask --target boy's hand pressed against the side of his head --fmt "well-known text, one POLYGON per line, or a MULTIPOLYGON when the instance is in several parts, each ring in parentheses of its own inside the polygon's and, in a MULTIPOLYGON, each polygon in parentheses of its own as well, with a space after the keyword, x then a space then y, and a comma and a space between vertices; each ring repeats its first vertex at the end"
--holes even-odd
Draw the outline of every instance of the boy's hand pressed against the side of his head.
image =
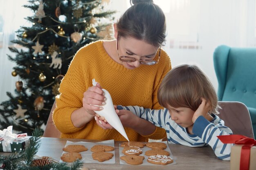
MULTIPOLYGON (((195 123, 195 120, 199 117, 199 116, 203 116, 205 117, 207 120, 211 120, 213 119, 213 117, 209 114, 210 111, 210 104, 206 102, 206 99, 201 98, 202 102, 200 104, 200 106, 198 107, 197 110, 195 110, 195 113, 192 117, 192 121, 193 123, 195 123)), ((210 121, 209 120, 209 121, 210 121)))

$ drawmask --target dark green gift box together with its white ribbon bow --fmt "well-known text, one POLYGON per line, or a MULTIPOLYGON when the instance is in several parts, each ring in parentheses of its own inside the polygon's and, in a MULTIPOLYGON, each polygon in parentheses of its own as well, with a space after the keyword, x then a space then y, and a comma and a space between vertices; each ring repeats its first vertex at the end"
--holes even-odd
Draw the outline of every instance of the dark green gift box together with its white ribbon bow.
POLYGON ((12 133, 12 126, 7 129, 0 130, 0 152, 17 152, 24 150, 29 144, 27 133, 14 134, 12 133))

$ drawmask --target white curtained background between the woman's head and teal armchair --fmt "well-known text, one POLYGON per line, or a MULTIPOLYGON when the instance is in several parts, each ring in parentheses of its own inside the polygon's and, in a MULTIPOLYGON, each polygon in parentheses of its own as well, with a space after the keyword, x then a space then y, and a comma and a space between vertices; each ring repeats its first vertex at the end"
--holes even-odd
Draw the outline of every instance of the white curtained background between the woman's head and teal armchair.
POLYGON ((168 36, 165 50, 172 66, 197 64, 217 90, 214 49, 222 44, 231 47, 256 46, 255 0, 170 2, 170 11, 166 13, 168 36))

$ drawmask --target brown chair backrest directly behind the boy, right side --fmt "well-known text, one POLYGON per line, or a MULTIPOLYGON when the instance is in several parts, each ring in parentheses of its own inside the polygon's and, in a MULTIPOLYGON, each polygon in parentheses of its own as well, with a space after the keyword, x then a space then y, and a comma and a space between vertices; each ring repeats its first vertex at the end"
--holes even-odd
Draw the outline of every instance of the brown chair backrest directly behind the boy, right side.
POLYGON ((233 134, 244 135, 254 139, 249 110, 241 102, 219 102, 222 109, 218 117, 225 122, 233 134))

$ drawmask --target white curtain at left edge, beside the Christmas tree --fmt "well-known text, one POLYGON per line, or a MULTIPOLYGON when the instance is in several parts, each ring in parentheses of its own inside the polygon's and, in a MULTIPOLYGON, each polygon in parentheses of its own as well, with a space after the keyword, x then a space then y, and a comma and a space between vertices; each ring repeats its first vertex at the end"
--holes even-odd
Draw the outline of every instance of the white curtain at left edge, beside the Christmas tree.
POLYGON ((11 75, 16 63, 9 61, 7 54, 15 55, 8 49, 14 45, 11 40, 15 38, 15 31, 29 24, 24 18, 32 14, 22 7, 24 4, 27 0, 0 0, 0 102, 9 99, 6 92, 14 93, 15 82, 18 81, 18 76, 11 75))

